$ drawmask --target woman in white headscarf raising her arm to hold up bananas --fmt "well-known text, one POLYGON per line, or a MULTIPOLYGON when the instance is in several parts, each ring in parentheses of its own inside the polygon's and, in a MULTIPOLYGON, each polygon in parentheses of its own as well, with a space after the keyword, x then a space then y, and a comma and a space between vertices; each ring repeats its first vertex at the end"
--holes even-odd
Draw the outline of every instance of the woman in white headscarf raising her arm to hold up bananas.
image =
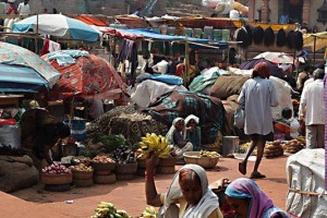
POLYGON ((157 155, 146 159, 145 191, 148 205, 160 207, 158 217, 222 218, 217 195, 208 189, 205 170, 197 165, 185 165, 173 177, 169 190, 158 194, 154 181, 157 155))

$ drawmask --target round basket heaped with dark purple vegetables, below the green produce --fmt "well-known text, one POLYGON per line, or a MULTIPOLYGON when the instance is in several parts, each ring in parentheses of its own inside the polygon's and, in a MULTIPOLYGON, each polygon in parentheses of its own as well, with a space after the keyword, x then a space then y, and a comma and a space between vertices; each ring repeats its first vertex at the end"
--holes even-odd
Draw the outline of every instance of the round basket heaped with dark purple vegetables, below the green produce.
POLYGON ((128 146, 121 145, 112 152, 112 159, 116 160, 117 180, 131 180, 137 171, 135 154, 128 146))

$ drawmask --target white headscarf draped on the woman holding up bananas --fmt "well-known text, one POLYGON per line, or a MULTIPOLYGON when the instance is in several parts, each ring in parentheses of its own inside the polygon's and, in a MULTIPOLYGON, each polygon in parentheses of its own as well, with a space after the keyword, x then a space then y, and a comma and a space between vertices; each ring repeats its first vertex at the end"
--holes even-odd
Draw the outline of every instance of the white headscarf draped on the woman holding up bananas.
MULTIPOLYGON (((217 195, 208 189, 208 178, 206 171, 198 165, 185 165, 182 167, 173 177, 172 182, 167 192, 166 201, 164 207, 160 210, 160 217, 165 217, 165 213, 170 209, 173 205, 174 199, 183 196, 180 187, 180 171, 184 169, 193 170, 199 178, 202 185, 202 198, 196 205, 190 206, 183 217, 195 218, 195 217, 208 217, 216 208, 219 207, 217 195)), ((173 208, 173 207, 172 207, 173 208)), ((178 215, 173 216, 178 217, 178 215)))

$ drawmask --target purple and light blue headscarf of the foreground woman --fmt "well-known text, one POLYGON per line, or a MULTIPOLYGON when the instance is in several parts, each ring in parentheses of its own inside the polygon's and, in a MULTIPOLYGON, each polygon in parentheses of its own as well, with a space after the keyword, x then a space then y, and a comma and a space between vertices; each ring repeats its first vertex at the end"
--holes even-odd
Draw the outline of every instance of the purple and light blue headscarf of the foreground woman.
POLYGON ((272 201, 250 179, 240 178, 230 183, 225 192, 233 198, 251 198, 247 217, 264 217, 274 207, 272 201))

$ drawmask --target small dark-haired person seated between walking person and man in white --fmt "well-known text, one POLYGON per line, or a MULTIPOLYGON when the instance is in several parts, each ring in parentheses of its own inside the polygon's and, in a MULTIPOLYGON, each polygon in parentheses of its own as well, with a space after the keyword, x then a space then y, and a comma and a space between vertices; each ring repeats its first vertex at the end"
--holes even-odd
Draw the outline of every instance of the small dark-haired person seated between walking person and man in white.
POLYGON ((292 109, 284 108, 281 111, 281 118, 274 121, 274 137, 275 140, 292 140, 291 122, 292 109))

